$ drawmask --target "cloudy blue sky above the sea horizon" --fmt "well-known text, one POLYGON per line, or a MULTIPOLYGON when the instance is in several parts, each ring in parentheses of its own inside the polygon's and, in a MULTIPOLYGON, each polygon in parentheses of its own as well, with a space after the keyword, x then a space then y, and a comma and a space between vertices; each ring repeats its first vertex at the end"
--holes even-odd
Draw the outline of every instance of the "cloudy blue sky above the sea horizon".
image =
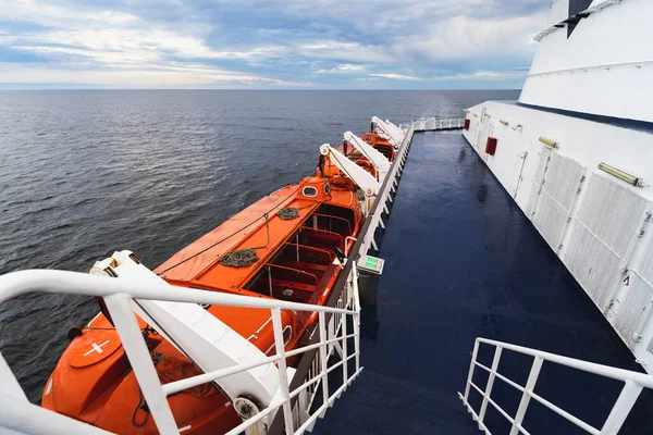
POLYGON ((520 88, 549 0, 0 0, 0 88, 520 88))

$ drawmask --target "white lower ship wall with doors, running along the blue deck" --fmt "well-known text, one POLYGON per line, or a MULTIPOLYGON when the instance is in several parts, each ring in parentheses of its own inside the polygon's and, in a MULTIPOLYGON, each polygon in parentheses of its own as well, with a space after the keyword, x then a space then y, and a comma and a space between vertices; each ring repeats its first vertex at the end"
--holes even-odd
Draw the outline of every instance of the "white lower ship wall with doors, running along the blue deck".
POLYGON ((653 372, 653 135, 495 101, 467 119, 469 144, 653 372), (489 136, 497 138, 494 156, 485 153, 489 136), (601 162, 645 186, 599 170, 601 162))

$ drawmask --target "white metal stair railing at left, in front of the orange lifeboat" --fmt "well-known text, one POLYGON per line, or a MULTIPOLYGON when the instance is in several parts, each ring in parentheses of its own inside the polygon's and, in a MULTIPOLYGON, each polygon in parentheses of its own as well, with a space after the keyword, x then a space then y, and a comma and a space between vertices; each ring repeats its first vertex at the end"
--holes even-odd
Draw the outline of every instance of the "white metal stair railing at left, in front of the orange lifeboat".
MULTIPOLYGON (((345 296, 343 297, 345 300, 357 300, 358 296, 349 295, 349 290, 354 293, 358 291, 356 283, 346 286, 346 289, 343 291, 345 296)), ((279 409, 283 409, 286 434, 301 434, 315 422, 320 413, 323 413, 325 407, 333 403, 335 398, 340 396, 362 370, 359 362, 360 312, 358 307, 354 306, 350 306, 352 308, 348 309, 337 309, 65 271, 30 270, 13 272, 0 276, 0 303, 32 291, 101 296, 104 299, 121 343, 134 370, 140 389, 143 390, 143 395, 157 424, 157 428, 161 434, 180 433, 168 403, 167 397, 169 395, 269 363, 278 364, 279 388, 281 394, 276 399, 273 399, 267 408, 262 409, 252 418, 245 420, 241 425, 229 432, 229 434, 241 434, 248 427, 257 424, 263 418, 273 414, 279 409), (272 314, 276 355, 273 357, 261 358, 257 361, 249 361, 246 364, 229 366, 161 385, 150 358, 150 352, 144 340, 143 334, 140 333, 136 318, 134 316, 132 308, 132 301, 134 299, 269 309, 272 314), (283 338, 281 310, 318 312, 318 332, 320 341, 311 346, 286 351, 283 338), (341 333, 336 336, 329 337, 326 334, 328 325, 325 316, 328 313, 340 315, 340 325, 337 330, 341 331, 341 333), (348 319, 350 320, 349 324, 353 328, 350 333, 347 331, 348 319), (353 351, 349 351, 347 340, 352 338, 355 341, 355 348, 353 351), (326 357, 329 352, 328 347, 335 343, 338 344, 342 358, 337 363, 329 365, 326 357), (300 387, 291 391, 288 388, 286 358, 295 357, 316 348, 319 349, 321 357, 320 370, 313 373, 311 378, 306 381, 300 387), (348 361, 353 359, 355 359, 355 370, 354 373, 348 374, 348 361), (335 388, 335 391, 330 395, 330 388, 326 381, 328 375, 330 372, 341 366, 343 370, 343 384, 338 388, 335 388), (306 421, 300 422, 301 424, 298 425, 296 424, 298 422, 293 417, 291 400, 317 382, 322 382, 322 406, 317 412, 309 415, 306 421)), ((13 394, 7 394, 8 391, 4 390, 4 387, 8 385, 17 386, 17 381, 2 358, 0 358, 0 382, 3 385, 3 390, 0 393, 0 427, 13 428, 20 432, 28 430, 27 432, 29 433, 42 434, 106 433, 104 431, 75 422, 71 419, 56 414, 54 412, 45 411, 42 408, 30 405, 27 402, 26 398, 24 398, 24 394, 22 395, 22 400, 16 400, 16 397, 21 396, 20 393, 22 391, 16 394, 15 388, 13 391, 9 391, 13 394)))

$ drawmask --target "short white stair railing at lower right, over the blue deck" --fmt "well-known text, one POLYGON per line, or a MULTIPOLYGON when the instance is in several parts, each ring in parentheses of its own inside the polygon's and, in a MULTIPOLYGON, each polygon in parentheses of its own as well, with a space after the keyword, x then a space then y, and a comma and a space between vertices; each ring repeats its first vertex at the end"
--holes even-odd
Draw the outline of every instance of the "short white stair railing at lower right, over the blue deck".
POLYGON ((467 410, 471 413, 473 420, 478 422, 479 428, 481 431, 484 431, 486 435, 491 435, 490 430, 485 426, 484 423, 488 405, 492 405, 512 424, 509 433, 510 435, 530 435, 529 432, 526 428, 523 428, 522 423, 531 399, 537 400, 544 407, 549 408, 551 411, 557 413, 570 423, 576 424, 577 426, 583 428, 590 434, 612 435, 617 434, 619 432, 621 425, 626 421, 626 418, 628 417, 630 410, 637 401, 637 398, 642 391, 642 388, 644 387, 653 388, 653 376, 608 365, 577 360, 574 358, 562 357, 559 355, 543 352, 527 347, 509 345, 507 343, 495 341, 485 338, 477 338, 471 356, 471 364, 469 365, 469 375, 467 377, 465 394, 461 395, 460 393, 458 393, 458 396, 460 397, 460 400, 463 400, 463 403, 465 403, 465 406, 467 407, 467 410), (490 368, 477 361, 479 345, 481 344, 493 346, 495 349, 494 359, 492 360, 492 365, 490 368), (504 350, 510 350, 517 353, 533 357, 531 370, 525 386, 519 385, 516 382, 506 377, 505 375, 498 373, 498 362, 501 361, 502 352, 504 350), (544 361, 624 382, 624 388, 621 389, 619 397, 617 398, 609 415, 607 417, 605 423, 601 428, 591 426, 590 424, 583 422, 582 420, 560 409, 559 407, 555 406, 551 401, 544 399, 543 397, 534 393, 538 376, 540 375, 540 370, 542 369, 542 364, 544 363, 544 361), (480 388, 472 381, 476 368, 479 368, 489 373, 488 382, 485 384, 484 389, 480 388), (510 385, 512 387, 521 391, 521 401, 519 402, 519 407, 517 408, 517 412, 514 417, 510 417, 491 397, 492 387, 494 385, 494 381, 497 377, 506 384, 510 385), (471 388, 473 388, 482 397, 481 407, 478 412, 473 410, 473 408, 469 405, 468 401, 471 388))

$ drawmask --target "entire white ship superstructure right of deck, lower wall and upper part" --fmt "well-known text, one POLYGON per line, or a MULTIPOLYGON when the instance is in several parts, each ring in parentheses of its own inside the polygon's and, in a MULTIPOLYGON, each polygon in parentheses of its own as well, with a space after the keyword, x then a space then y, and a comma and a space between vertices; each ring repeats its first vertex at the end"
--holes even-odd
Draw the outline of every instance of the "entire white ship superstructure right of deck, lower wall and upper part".
MULTIPOLYGON (((592 8, 600 3, 594 1, 592 8)), ((613 64, 617 51, 634 55, 633 46, 638 59, 653 59, 651 47, 618 42, 624 42, 624 34, 637 32, 640 40, 650 35, 653 27, 645 20, 653 16, 653 2, 612 3, 583 18, 569 39, 566 30, 557 28, 542 36, 532 73, 578 62, 583 66, 613 64)), ((553 23, 560 21, 558 15, 567 7, 568 0, 553 3, 553 23)), ((640 83, 643 70, 630 65, 531 75, 520 101, 650 121, 653 101, 651 87, 640 83), (621 76, 617 71, 630 73, 621 76), (584 77, 583 86, 570 78, 578 76, 584 77), (631 92, 623 94, 623 86, 632 87, 631 92), (574 96, 574 104, 563 92, 574 96)), ((464 135, 469 144, 637 361, 653 373, 653 127, 629 128, 613 119, 594 122, 568 112, 498 101, 470 108, 467 119, 470 125, 464 135), (485 148, 489 137, 497 139, 493 156, 485 148)))

